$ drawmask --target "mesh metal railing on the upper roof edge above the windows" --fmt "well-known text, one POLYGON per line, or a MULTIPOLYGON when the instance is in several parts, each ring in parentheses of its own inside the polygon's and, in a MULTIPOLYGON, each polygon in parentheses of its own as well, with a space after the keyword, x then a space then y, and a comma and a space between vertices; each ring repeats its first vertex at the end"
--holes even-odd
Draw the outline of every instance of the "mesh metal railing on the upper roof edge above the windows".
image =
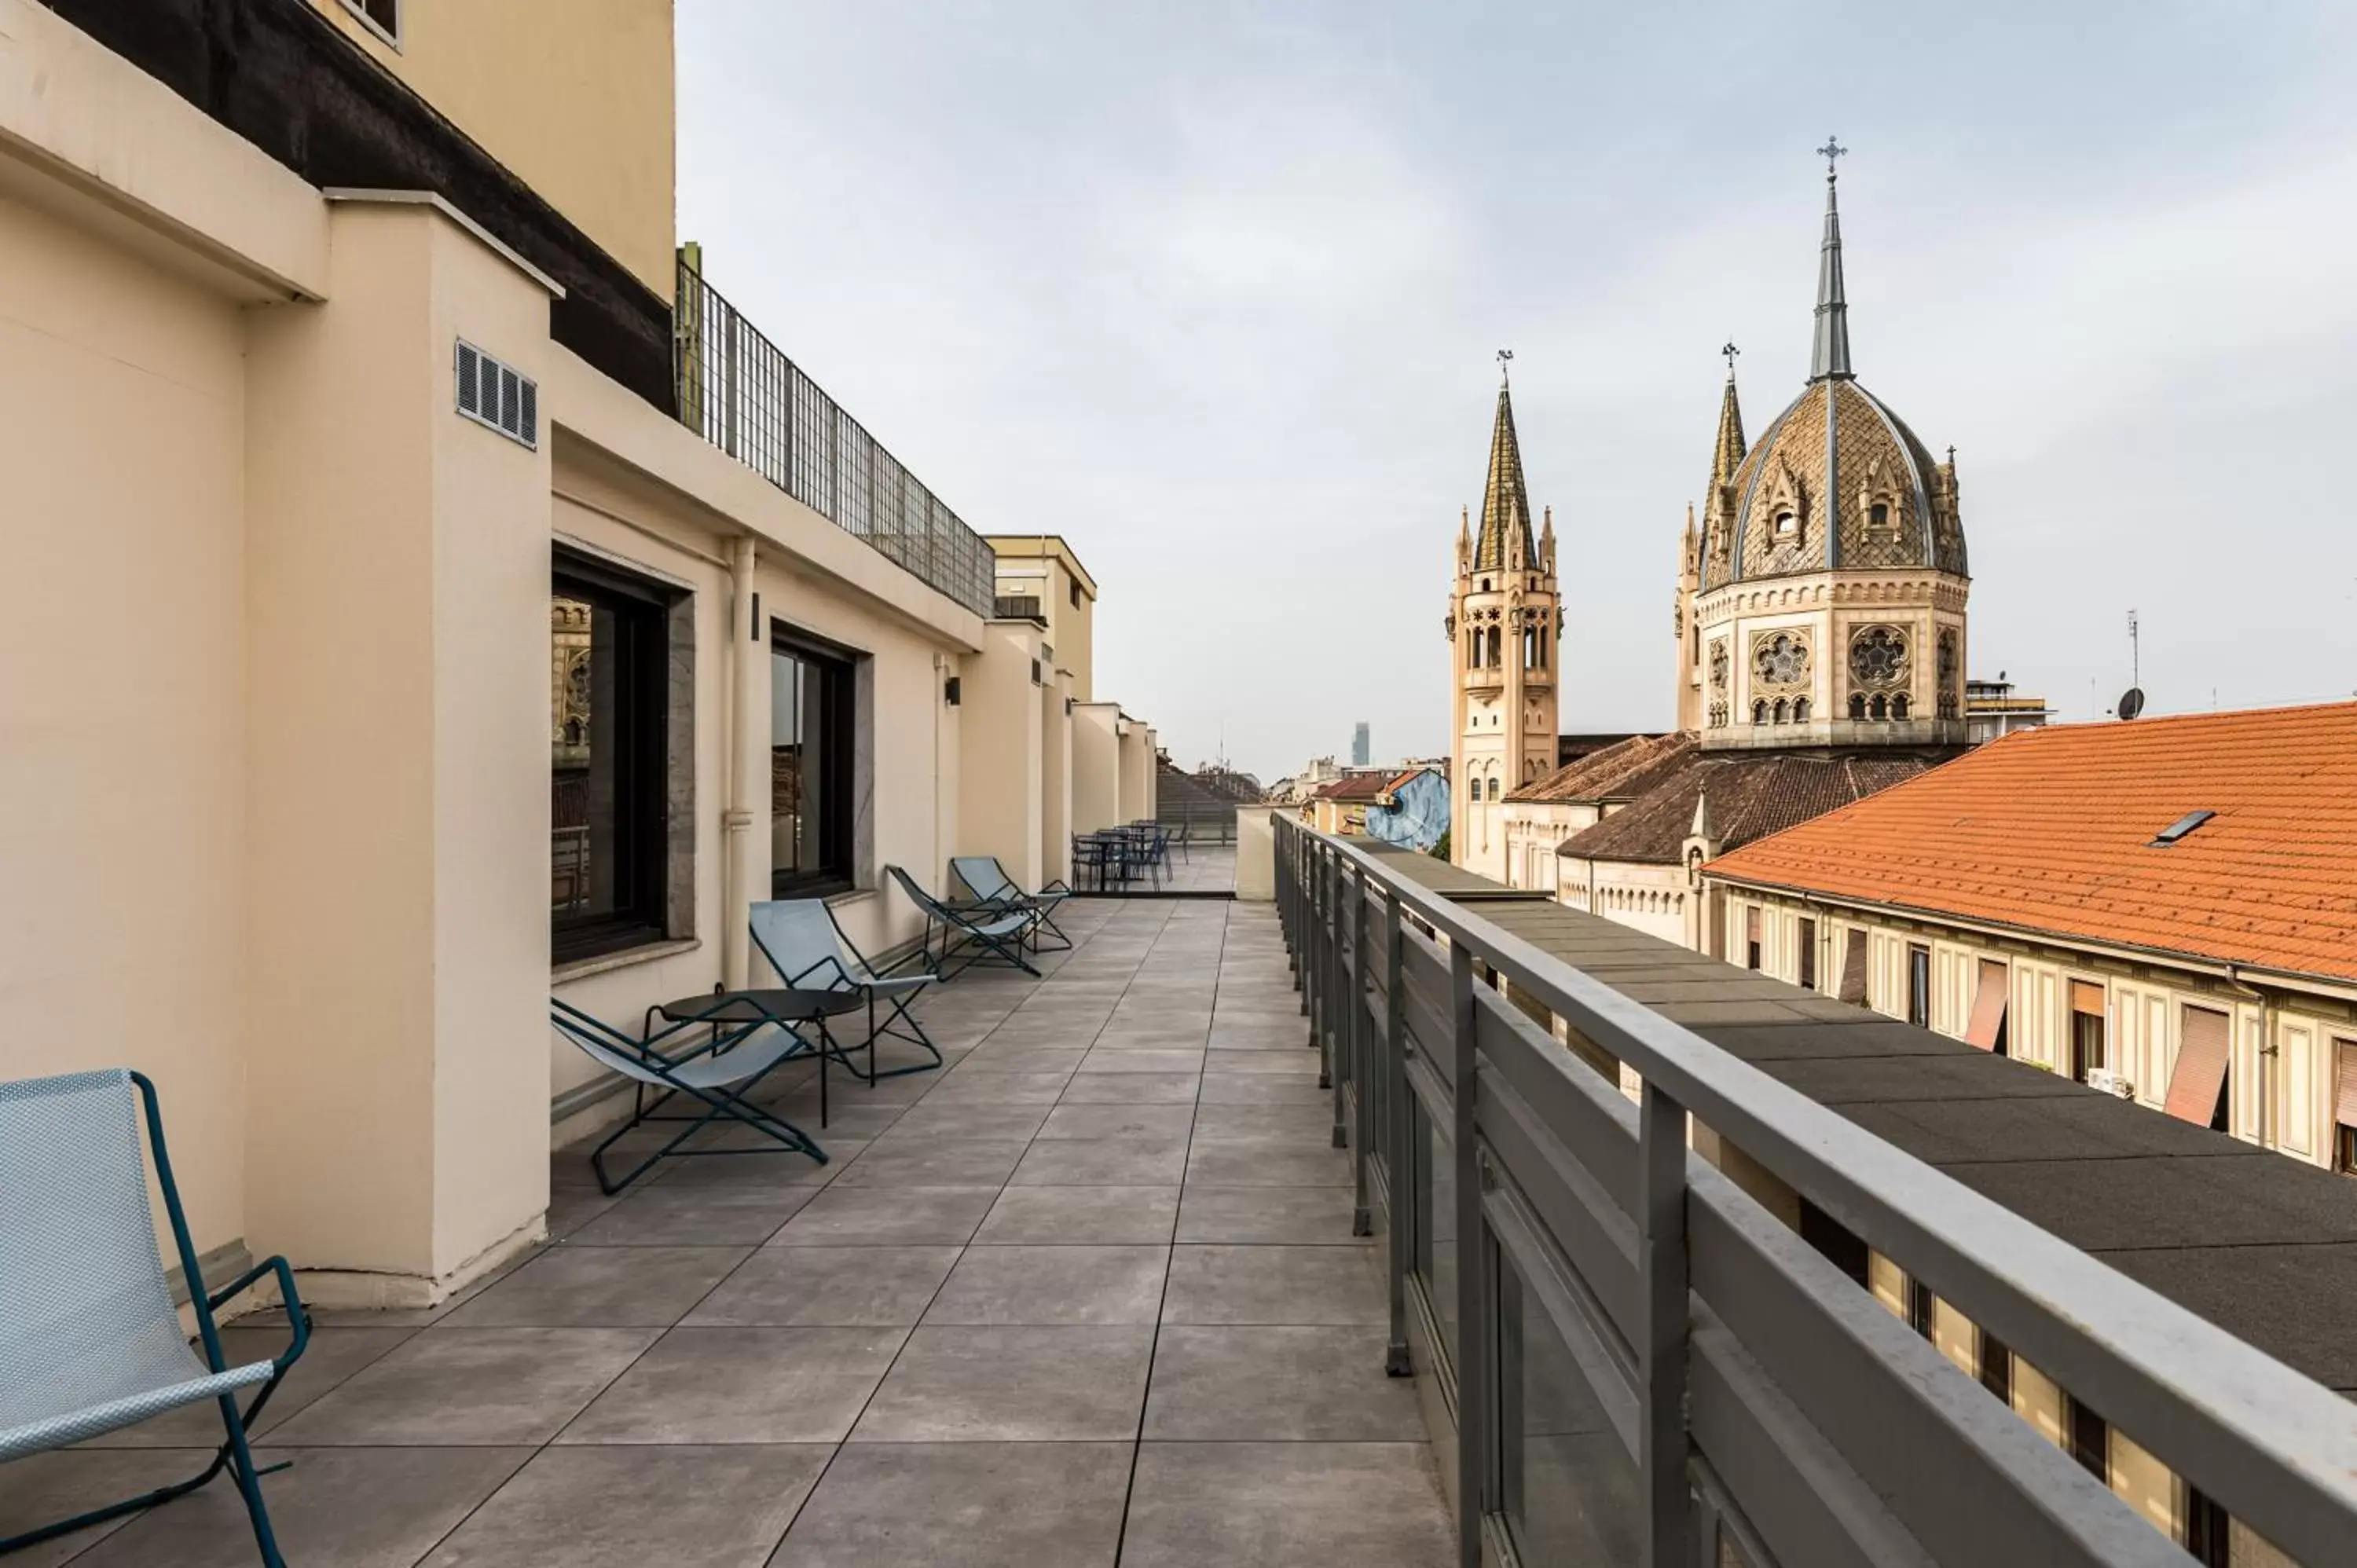
POLYGON ((681 424, 976 615, 992 613, 997 556, 983 535, 837 408, 686 257, 672 307, 672 373, 681 424))

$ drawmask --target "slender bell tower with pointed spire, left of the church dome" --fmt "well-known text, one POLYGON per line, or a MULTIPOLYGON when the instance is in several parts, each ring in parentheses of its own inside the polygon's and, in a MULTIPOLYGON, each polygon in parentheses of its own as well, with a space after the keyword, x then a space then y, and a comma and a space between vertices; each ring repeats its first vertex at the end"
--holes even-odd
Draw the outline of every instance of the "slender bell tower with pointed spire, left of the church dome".
POLYGON ((1497 422, 1480 531, 1457 523, 1450 589, 1450 858, 1506 879, 1504 802, 1556 771, 1556 514, 1532 533, 1523 448, 1513 434, 1511 349, 1499 349, 1497 422))

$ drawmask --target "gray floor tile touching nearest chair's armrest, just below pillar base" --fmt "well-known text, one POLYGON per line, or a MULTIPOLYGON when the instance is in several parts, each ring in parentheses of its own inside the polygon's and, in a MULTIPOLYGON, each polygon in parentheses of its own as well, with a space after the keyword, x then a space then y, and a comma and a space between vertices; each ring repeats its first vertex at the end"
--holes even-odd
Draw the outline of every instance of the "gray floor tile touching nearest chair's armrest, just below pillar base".
POLYGON ((436 1327, 264 1438, 288 1448, 547 1443, 653 1327, 436 1327))

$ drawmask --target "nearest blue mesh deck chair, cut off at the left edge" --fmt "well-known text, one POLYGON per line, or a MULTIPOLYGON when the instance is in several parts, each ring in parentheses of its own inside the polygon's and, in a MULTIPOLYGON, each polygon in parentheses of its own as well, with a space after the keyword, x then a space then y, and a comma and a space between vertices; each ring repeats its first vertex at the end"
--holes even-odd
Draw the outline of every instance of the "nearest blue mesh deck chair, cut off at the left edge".
MULTIPOLYGON (((0 1464, 66 1448, 165 1410, 214 1401, 226 1441, 189 1481, 0 1540, 0 1554, 193 1493, 224 1469, 245 1497, 262 1561, 283 1568, 247 1434, 311 1342, 311 1318, 283 1257, 205 1292, 163 1144, 156 1085, 127 1068, 0 1082, 0 1464), (139 1111, 200 1346, 191 1346, 148 1210, 139 1111), (283 1356, 233 1368, 212 1313, 278 1276, 283 1356), (259 1389, 245 1410, 238 1391, 259 1389)), ((283 1467, 271 1467, 283 1469, 283 1467)))

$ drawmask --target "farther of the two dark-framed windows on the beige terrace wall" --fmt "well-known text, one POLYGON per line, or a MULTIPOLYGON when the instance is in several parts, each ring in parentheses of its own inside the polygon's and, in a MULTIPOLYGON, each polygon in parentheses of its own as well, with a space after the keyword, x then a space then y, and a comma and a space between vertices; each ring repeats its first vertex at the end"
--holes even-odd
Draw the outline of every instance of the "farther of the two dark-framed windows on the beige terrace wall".
POLYGON ((851 658, 771 630, 768 884, 773 898, 851 887, 851 658))

